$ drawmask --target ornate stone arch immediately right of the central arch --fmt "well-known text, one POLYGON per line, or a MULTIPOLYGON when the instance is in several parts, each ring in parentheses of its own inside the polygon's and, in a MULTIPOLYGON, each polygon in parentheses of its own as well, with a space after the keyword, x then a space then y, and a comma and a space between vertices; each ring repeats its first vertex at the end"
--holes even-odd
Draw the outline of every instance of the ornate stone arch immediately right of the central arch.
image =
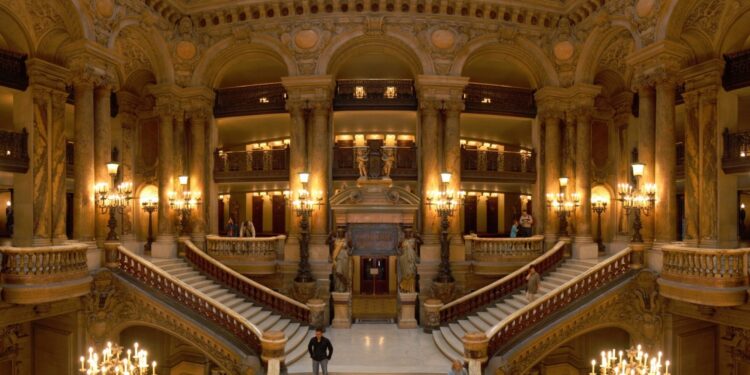
POLYGON ((557 72, 544 52, 529 40, 517 37, 513 43, 498 43, 497 35, 486 35, 476 38, 457 54, 452 75, 460 75, 467 62, 484 53, 499 52, 507 55, 519 66, 524 67, 531 75, 531 81, 537 88, 543 86, 559 86, 560 79, 557 72))

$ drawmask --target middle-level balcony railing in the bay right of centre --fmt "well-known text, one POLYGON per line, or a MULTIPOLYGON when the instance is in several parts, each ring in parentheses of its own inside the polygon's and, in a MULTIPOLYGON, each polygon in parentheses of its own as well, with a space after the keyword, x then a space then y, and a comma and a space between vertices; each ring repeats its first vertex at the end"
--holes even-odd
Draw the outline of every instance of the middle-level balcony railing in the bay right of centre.
POLYGON ((461 180, 536 181, 536 154, 531 150, 498 151, 461 147, 461 180))

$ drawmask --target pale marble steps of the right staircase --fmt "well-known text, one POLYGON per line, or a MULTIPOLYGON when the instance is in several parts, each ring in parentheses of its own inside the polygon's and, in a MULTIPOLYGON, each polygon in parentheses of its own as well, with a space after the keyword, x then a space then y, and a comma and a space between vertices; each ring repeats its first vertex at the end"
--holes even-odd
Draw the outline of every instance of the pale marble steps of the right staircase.
MULTIPOLYGON (((542 275, 539 284, 539 292, 536 298, 540 298, 552 292, 560 285, 587 271, 598 264, 598 260, 574 260, 566 259, 554 271, 542 275)), ((440 329, 432 331, 432 338, 438 349, 448 358, 463 358, 463 342, 461 338, 467 332, 488 332, 493 326, 503 319, 523 308, 529 301, 526 299, 526 290, 522 289, 510 295, 508 298, 496 301, 495 304, 465 318, 458 319, 440 329)))

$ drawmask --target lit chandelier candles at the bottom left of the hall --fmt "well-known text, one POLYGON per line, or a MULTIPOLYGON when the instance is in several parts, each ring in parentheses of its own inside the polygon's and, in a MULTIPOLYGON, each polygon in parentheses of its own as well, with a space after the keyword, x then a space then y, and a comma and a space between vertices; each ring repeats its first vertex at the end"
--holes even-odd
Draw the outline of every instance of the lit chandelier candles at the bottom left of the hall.
MULTIPOLYGON (((81 356, 81 368, 78 371, 86 375, 149 374, 147 351, 139 349, 138 343, 133 344, 133 350, 123 352, 123 349, 122 346, 108 342, 100 355, 89 347, 89 357, 87 359, 81 356)), ((156 374, 156 361, 151 362, 150 367, 150 374, 156 374)))

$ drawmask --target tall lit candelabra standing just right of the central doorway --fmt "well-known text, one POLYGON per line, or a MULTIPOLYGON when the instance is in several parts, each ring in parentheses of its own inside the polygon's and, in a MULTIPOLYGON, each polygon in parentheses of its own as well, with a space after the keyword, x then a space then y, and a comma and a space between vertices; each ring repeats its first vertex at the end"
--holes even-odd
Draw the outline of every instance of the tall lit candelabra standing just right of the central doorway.
POLYGON ((453 216, 456 208, 461 205, 461 201, 466 193, 458 193, 448 190, 448 184, 451 181, 451 174, 443 172, 440 174, 442 187, 440 190, 432 191, 427 194, 427 206, 435 211, 440 217, 440 266, 438 274, 434 281, 441 283, 451 283, 454 281, 451 273, 450 264, 450 244, 448 242, 448 218, 453 216))

